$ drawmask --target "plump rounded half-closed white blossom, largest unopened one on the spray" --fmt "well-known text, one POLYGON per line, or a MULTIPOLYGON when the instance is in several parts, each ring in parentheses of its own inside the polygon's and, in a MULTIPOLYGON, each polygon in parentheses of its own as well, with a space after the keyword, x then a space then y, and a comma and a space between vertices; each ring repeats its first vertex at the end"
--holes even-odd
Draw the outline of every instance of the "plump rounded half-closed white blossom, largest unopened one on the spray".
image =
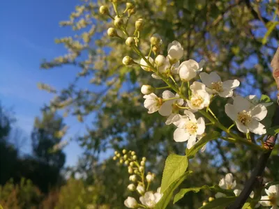
POLYGON ((197 72, 202 70, 201 65, 193 59, 183 61, 179 65, 179 77, 183 82, 189 82, 191 79, 197 76, 197 72))

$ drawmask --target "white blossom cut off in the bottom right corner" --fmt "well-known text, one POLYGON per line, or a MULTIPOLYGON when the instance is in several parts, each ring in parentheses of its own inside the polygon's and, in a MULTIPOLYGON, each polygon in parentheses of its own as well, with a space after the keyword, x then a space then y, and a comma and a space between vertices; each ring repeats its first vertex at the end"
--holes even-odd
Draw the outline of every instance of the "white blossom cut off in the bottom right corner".
POLYGON ((262 196, 259 203, 262 206, 272 206, 272 209, 278 208, 279 206, 279 186, 272 185, 269 189, 265 189, 267 196, 262 196))

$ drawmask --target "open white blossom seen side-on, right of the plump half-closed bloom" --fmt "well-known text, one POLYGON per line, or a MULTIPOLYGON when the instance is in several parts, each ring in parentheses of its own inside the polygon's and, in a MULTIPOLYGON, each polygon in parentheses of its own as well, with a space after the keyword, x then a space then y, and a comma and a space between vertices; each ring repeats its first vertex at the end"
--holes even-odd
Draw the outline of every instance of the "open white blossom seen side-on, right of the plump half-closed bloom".
POLYGON ((232 97, 234 88, 237 88, 240 84, 237 79, 222 82, 220 76, 216 72, 211 72, 210 74, 201 72, 199 77, 202 83, 206 85, 206 91, 218 94, 223 98, 232 97))

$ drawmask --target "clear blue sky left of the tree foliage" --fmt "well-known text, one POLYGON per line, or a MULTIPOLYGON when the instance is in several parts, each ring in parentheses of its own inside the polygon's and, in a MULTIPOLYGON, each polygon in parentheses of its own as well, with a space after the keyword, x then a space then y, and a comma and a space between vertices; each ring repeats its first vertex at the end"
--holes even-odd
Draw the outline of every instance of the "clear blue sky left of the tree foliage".
MULTIPOLYGON (((37 83, 66 87, 77 72, 70 67, 40 70, 39 66, 42 59, 50 60, 65 52, 62 45, 54 44, 54 38, 73 34, 70 29, 61 28, 59 21, 68 20, 78 3, 78 0, 1 2, 0 101, 4 107, 13 109, 16 125, 28 137, 22 153, 30 153, 33 119, 40 116, 40 107, 52 98, 49 93, 40 91, 37 83)), ((74 118, 67 118, 65 122, 70 125, 65 139, 82 133, 83 125, 74 118)), ((65 151, 67 165, 74 165, 82 153, 73 141, 65 151)))

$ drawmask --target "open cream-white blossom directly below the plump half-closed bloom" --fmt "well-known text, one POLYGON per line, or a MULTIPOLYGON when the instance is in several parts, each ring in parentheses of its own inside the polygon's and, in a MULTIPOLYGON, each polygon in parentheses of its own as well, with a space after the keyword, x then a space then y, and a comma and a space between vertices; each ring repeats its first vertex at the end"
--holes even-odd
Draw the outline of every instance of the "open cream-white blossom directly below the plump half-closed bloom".
MULTIPOLYGON (((204 107, 208 107, 210 104, 210 95, 206 91, 199 91, 199 89, 195 89, 195 85, 199 82, 194 82, 190 89, 192 89, 192 96, 190 100, 187 100, 188 107, 195 111, 199 109, 204 109, 204 107)), ((199 83, 202 84, 202 83, 199 83)))

